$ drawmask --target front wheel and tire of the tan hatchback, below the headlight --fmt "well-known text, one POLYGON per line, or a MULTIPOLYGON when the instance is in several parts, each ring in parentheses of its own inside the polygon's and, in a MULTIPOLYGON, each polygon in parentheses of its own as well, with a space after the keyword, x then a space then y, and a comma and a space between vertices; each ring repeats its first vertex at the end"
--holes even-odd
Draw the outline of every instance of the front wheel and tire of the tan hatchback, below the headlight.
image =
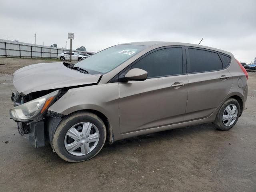
POLYGON ((95 114, 76 112, 58 125, 52 144, 65 161, 86 161, 98 154, 106 140, 106 126, 95 114))

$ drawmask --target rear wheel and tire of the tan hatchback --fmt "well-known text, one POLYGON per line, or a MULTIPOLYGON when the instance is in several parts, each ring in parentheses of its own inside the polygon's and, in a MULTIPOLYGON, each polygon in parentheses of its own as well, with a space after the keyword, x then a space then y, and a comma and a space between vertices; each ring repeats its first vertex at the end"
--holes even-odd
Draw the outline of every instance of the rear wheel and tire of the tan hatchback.
POLYGON ((218 130, 230 130, 238 121, 240 105, 237 100, 229 98, 226 100, 216 116, 214 125, 218 130))

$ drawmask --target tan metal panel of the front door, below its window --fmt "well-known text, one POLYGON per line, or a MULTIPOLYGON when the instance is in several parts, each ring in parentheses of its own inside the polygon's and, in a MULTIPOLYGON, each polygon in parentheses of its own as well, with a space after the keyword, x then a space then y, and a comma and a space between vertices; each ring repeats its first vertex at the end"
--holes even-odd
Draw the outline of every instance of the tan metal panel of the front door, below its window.
POLYGON ((184 121, 188 76, 151 78, 120 83, 120 132, 132 132, 184 121), (180 88, 171 88, 183 82, 180 88))

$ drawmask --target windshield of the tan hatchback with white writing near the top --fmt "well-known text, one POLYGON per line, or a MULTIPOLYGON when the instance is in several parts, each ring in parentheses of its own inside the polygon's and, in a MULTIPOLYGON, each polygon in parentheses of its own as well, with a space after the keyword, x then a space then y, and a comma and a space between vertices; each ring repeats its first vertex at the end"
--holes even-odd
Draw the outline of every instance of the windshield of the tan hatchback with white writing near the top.
POLYGON ((91 72, 107 73, 142 51, 144 48, 146 48, 146 46, 116 45, 78 62, 75 64, 75 67, 88 70, 90 74, 91 72))

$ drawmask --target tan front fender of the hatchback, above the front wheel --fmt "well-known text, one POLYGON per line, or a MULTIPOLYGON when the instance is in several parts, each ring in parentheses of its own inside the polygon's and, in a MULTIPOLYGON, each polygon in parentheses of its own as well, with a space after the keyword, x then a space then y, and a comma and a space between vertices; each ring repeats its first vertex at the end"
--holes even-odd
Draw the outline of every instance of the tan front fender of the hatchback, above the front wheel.
POLYGON ((119 85, 108 83, 68 90, 49 110, 63 115, 79 110, 96 110, 104 114, 111 126, 115 140, 122 139, 119 129, 119 85))

